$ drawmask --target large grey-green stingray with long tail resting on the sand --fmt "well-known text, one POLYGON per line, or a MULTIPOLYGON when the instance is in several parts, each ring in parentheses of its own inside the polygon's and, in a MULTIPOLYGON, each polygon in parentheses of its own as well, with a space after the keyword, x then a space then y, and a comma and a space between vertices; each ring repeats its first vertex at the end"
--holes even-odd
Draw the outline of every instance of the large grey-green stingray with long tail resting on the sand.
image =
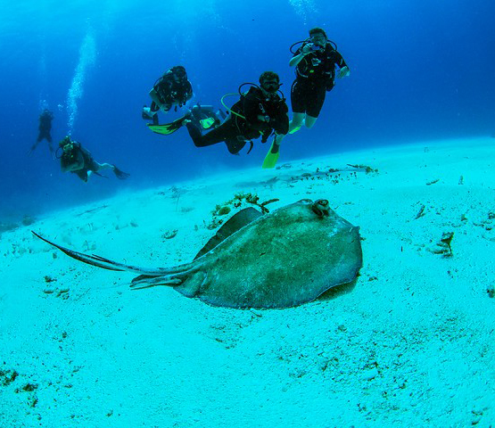
POLYGON ((322 199, 304 199, 265 215, 240 210, 191 263, 171 268, 124 265, 37 237, 73 259, 139 274, 131 288, 169 285, 186 297, 229 308, 298 306, 351 283, 362 266, 359 227, 322 199))

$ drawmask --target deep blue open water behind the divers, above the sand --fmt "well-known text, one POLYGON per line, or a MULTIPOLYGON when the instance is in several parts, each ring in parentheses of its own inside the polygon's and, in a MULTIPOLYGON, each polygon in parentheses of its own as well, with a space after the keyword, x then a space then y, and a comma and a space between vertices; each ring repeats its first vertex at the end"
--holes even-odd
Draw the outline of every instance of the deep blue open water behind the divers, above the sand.
POLYGON ((260 165, 268 144, 255 142, 247 156, 224 144, 196 148, 186 129, 154 135, 141 108, 155 79, 177 64, 193 84, 192 102, 219 106, 264 70, 280 75, 290 101, 289 46, 315 26, 338 45, 351 76, 327 95, 315 128, 285 139, 282 161, 495 131, 489 0, 2 3, 0 221, 260 165), (45 142, 28 156, 45 107, 54 111, 55 146, 70 132, 97 161, 128 171, 128 181, 111 175, 84 184, 62 174, 45 142))

